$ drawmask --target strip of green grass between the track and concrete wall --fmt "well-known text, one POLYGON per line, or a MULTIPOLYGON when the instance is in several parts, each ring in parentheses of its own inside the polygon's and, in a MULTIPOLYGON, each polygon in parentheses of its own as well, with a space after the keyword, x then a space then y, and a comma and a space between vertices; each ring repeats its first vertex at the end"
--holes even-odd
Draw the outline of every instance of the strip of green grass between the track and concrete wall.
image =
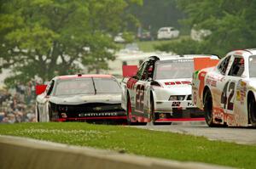
POLYGON ((0 125, 1 135, 49 140, 62 144, 122 150, 126 153, 254 168, 256 146, 209 141, 172 132, 86 123, 21 123, 0 125))

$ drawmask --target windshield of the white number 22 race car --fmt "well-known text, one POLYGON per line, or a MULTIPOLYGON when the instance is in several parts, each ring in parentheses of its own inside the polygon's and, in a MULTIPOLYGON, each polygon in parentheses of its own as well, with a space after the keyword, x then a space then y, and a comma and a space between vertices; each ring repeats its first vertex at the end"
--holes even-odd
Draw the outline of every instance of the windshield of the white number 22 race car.
POLYGON ((172 59, 155 64, 154 80, 191 78, 194 71, 193 59, 172 59))

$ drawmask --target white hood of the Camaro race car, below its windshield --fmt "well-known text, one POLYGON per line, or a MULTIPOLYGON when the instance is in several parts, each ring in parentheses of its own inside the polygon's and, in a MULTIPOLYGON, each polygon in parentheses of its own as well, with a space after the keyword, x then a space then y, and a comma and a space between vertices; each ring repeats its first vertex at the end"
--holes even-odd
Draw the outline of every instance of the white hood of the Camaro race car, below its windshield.
POLYGON ((89 103, 121 103, 121 94, 96 94, 96 95, 68 95, 52 96, 49 102, 54 104, 89 104, 89 103))

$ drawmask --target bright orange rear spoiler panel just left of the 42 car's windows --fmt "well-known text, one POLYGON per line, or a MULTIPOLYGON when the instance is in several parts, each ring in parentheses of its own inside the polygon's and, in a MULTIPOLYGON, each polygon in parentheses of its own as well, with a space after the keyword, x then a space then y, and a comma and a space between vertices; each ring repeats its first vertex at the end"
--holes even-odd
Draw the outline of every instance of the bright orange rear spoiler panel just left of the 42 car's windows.
POLYGON ((213 67, 218 64, 219 59, 211 58, 194 58, 194 69, 202 70, 207 67, 213 67))

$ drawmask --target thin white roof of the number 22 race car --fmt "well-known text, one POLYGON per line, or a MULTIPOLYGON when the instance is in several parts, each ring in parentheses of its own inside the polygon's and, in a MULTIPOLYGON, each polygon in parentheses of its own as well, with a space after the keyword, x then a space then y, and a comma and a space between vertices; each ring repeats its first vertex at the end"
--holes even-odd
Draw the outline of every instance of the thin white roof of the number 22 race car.
POLYGON ((160 60, 194 59, 194 58, 206 58, 206 57, 210 57, 211 59, 219 59, 217 55, 212 55, 212 54, 163 55, 163 56, 155 56, 155 57, 159 58, 160 60))

